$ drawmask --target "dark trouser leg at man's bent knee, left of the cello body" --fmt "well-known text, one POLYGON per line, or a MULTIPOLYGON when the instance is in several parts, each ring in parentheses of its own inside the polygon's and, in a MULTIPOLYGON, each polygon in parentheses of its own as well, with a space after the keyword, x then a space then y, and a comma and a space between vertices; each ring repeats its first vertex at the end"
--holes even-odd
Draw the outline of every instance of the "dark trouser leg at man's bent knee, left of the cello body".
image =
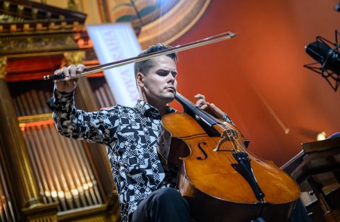
POLYGON ((172 188, 153 191, 133 213, 132 222, 186 222, 190 221, 190 208, 180 192, 172 188))

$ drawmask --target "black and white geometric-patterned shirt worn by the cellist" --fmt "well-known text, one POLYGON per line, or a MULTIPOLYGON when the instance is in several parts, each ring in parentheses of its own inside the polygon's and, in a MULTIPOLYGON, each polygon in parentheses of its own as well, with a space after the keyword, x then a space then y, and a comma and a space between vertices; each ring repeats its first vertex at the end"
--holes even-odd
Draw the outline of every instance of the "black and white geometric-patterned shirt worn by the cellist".
MULTIPOLYGON (((157 109, 137 101, 134 108, 114 105, 98 112, 77 110, 73 93, 54 90, 48 101, 58 132, 66 137, 105 144, 119 194, 122 221, 128 221, 141 200, 176 185, 176 173, 162 164, 157 149, 169 146, 157 109), (160 147, 162 146, 162 147, 160 147)), ((176 112, 167 107, 167 112, 176 112)))

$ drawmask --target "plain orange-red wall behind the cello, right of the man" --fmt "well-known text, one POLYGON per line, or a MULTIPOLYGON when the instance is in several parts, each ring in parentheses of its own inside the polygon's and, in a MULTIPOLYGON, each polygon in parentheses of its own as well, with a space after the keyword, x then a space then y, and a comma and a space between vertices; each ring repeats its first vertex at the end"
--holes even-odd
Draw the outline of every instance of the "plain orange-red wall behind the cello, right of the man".
MULTIPOLYGON (((180 52, 178 91, 205 94, 250 139, 249 150, 281 166, 300 144, 340 131, 340 89, 318 74, 305 45, 340 30, 335 0, 210 2, 200 20, 172 45, 232 31, 237 37, 180 52), (280 121, 283 126, 280 125, 280 121), (289 133, 284 133, 289 128, 289 133)), ((178 106, 177 106, 178 107, 178 106)))

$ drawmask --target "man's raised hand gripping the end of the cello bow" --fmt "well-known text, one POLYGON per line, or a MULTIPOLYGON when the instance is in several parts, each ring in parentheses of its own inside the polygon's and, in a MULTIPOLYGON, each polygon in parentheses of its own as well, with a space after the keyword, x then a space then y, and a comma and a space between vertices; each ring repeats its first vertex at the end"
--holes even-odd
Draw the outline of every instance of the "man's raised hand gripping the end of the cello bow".
MULTIPOLYGON (((62 67, 61 69, 57 69, 54 71, 54 74, 56 76, 60 76, 61 74, 64 74, 65 78, 69 76, 76 76, 80 73, 82 73, 85 69, 85 66, 83 64, 78 65, 77 67, 75 65, 70 65, 69 67, 62 67)), ((56 81, 54 84, 56 85, 56 89, 59 92, 73 92, 74 89, 76 89, 78 82, 78 78, 74 78, 67 81, 56 81)))

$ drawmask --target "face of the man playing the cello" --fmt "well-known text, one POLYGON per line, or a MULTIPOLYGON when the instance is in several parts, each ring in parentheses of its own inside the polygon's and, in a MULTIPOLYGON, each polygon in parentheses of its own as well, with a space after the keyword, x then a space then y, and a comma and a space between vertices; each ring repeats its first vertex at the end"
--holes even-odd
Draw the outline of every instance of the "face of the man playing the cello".
POLYGON ((152 58, 153 67, 144 75, 144 92, 150 103, 170 103, 177 89, 176 63, 169 56, 152 58))

